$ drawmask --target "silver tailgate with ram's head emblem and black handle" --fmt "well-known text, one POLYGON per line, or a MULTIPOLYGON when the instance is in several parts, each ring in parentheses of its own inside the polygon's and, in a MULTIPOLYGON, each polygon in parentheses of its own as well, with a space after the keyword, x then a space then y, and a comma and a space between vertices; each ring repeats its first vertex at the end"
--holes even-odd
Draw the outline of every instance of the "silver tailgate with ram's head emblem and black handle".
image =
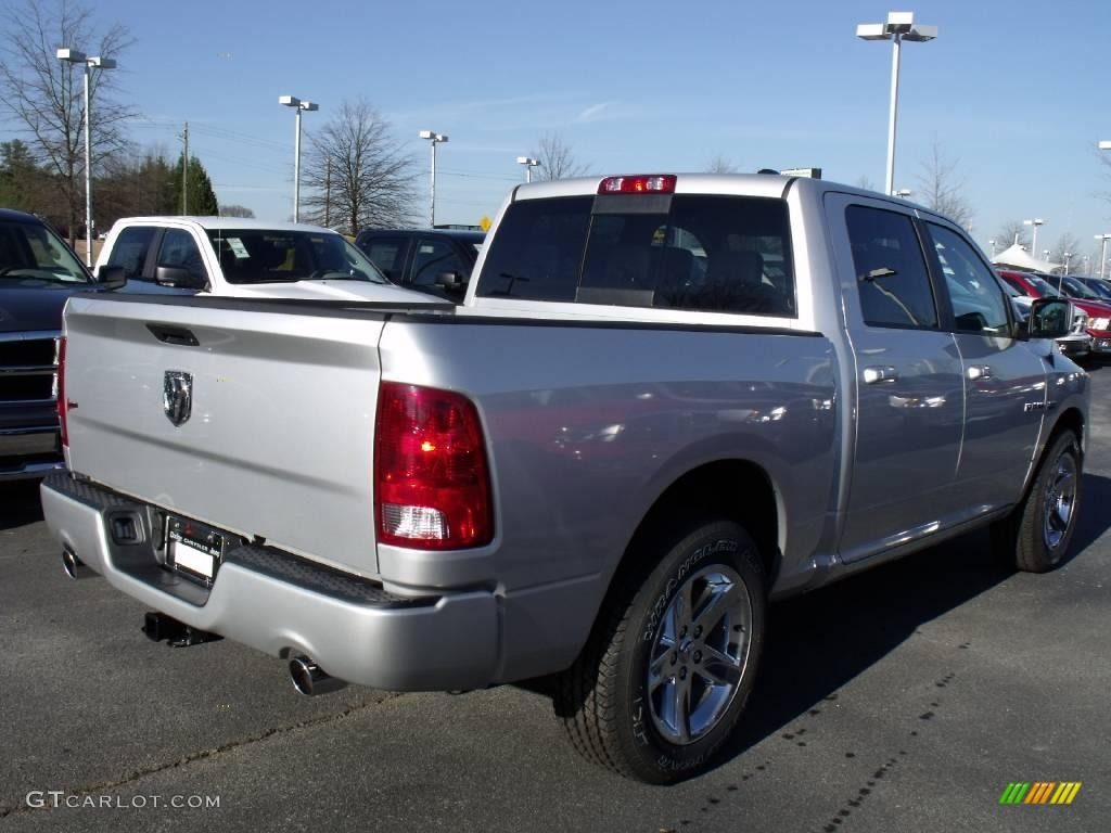
POLYGON ((266 307, 71 300, 70 468, 374 578, 373 421, 386 317, 266 307), (183 421, 174 378, 191 388, 183 421))

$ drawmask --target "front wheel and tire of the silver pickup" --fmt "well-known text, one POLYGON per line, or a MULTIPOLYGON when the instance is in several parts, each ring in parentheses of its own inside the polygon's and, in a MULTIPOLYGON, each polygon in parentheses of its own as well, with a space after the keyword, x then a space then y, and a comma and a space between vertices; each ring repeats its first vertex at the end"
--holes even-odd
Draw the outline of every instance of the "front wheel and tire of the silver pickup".
POLYGON ((1077 530, 1082 481, 1080 441, 1073 431, 1061 431, 1050 440, 1022 503, 992 529, 1000 554, 1024 572, 1059 566, 1077 530))

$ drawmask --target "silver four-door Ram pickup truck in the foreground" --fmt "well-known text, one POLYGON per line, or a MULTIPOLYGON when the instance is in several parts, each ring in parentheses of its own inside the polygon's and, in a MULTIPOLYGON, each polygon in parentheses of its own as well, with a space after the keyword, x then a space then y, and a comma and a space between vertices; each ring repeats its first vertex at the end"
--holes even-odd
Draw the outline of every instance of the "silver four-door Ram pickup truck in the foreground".
POLYGON ((459 307, 69 302, 67 570, 337 681, 554 675, 574 745, 704 767, 768 601, 990 525, 1075 528, 1089 380, 1068 303, 1012 319, 964 232, 778 175, 516 189, 459 307))

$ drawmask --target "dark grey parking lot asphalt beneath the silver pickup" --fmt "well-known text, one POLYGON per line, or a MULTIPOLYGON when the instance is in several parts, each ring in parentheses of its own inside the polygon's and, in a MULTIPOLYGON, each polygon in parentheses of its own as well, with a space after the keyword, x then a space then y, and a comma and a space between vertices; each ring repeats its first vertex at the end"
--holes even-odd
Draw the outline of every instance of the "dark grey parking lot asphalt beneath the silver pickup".
POLYGON ((1091 374, 1068 563, 1015 573, 973 534, 774 605, 738 742, 672 787, 581 761, 542 682, 307 699, 232 642, 152 643, 142 606, 63 575, 33 485, 0 489, 0 830, 1108 830, 1111 368, 1091 374), (1001 805, 1011 782, 1082 786, 1001 805))

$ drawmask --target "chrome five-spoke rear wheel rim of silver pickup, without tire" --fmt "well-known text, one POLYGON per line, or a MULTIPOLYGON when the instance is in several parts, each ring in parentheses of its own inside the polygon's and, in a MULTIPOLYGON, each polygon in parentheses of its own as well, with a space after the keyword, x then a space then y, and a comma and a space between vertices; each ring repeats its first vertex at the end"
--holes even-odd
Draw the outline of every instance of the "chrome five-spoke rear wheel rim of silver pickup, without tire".
POLYGON ((652 723, 667 741, 694 743, 718 724, 743 676, 751 629, 752 600, 732 568, 714 564, 683 581, 648 664, 652 723))

